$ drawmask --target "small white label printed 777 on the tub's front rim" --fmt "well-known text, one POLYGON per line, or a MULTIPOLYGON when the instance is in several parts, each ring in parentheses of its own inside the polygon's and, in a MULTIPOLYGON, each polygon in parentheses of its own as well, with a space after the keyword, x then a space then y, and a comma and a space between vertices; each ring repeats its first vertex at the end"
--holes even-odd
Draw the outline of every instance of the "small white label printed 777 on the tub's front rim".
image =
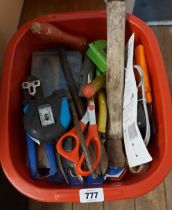
POLYGON ((104 192, 103 188, 90 188, 79 190, 81 203, 103 202, 104 192))

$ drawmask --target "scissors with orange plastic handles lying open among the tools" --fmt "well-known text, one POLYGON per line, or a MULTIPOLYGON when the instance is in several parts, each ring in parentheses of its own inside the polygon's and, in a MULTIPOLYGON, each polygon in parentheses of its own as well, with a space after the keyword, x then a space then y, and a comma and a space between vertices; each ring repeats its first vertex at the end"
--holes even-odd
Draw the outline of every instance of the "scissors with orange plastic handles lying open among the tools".
MULTIPOLYGON (((88 100, 87 111, 80 121, 80 128, 82 132, 84 132, 88 123, 89 125, 86 135, 86 146, 89 147, 90 143, 92 143, 92 145, 94 146, 95 159, 93 161, 93 168, 96 169, 100 161, 101 151, 100 151, 100 139, 98 136, 97 125, 96 125, 94 99, 88 100)), ((85 160, 85 154, 82 152, 82 154, 80 155, 80 145, 81 144, 77 135, 77 130, 76 127, 74 127, 57 141, 56 149, 61 156, 75 163, 77 174, 81 176, 88 176, 91 174, 91 171, 84 170, 82 167, 85 160), (75 140, 75 146, 72 149, 72 151, 66 151, 63 148, 63 142, 67 141, 69 137, 73 137, 73 139, 75 140)))

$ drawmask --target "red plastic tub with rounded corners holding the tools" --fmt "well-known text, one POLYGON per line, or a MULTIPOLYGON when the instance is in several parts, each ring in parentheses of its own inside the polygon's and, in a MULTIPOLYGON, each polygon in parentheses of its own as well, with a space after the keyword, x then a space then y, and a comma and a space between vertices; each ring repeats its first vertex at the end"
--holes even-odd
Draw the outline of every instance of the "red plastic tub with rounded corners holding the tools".
MULTIPOLYGON (((106 39, 105 11, 52 14, 35 20, 49 22, 65 31, 84 35, 89 41, 106 39)), ((44 202, 79 202, 79 187, 48 183, 44 180, 34 181, 26 166, 21 82, 30 73, 32 52, 54 46, 31 34, 29 27, 35 20, 26 23, 15 33, 9 42, 4 60, 0 98, 1 165, 15 188, 30 198, 44 202)), ((149 67, 157 129, 149 145, 153 161, 144 174, 128 173, 121 181, 103 184, 105 200, 128 199, 147 193, 165 178, 172 166, 171 96, 160 49, 150 28, 135 16, 128 15, 126 40, 133 32, 136 35, 135 43, 141 43, 145 47, 149 67)))

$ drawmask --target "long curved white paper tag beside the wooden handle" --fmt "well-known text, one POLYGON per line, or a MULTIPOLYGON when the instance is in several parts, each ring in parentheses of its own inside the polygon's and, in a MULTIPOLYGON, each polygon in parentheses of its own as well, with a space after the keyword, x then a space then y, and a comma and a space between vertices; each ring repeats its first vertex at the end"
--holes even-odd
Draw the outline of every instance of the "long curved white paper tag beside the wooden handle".
POLYGON ((125 71, 123 133, 129 167, 150 162, 150 156, 137 125, 138 90, 133 71, 134 34, 126 47, 127 67, 125 71))

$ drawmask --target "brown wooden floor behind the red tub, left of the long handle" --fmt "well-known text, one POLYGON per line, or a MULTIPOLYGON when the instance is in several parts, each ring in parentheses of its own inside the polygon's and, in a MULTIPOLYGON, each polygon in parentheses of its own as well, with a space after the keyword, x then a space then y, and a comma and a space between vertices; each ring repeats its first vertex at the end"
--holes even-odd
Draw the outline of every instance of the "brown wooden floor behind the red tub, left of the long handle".
POLYGON ((41 15, 105 9, 104 0, 25 0, 20 25, 41 15))

